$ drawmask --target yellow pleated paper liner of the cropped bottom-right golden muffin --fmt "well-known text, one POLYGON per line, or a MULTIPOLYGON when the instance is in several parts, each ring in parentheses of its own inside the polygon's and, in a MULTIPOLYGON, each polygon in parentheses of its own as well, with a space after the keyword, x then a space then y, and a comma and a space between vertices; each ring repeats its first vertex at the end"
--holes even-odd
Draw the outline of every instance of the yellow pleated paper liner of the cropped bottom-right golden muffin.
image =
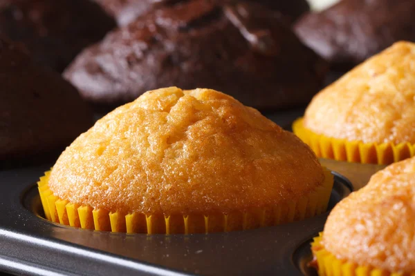
POLYGON ((322 235, 315 237, 311 243, 311 250, 317 259, 318 275, 320 276, 415 276, 415 273, 393 273, 371 266, 359 266, 345 260, 337 259, 321 244, 322 235))

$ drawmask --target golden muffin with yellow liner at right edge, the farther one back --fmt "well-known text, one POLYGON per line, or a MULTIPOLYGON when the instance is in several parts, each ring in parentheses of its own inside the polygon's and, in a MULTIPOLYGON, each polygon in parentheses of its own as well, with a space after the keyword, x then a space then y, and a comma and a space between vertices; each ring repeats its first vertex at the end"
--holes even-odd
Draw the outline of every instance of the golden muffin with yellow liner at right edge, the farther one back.
POLYGON ((295 132, 314 145, 317 155, 326 147, 329 158, 346 159, 345 147, 354 148, 351 155, 366 151, 367 157, 353 161, 388 164, 412 156, 414 76, 415 44, 395 43, 315 95, 295 132))

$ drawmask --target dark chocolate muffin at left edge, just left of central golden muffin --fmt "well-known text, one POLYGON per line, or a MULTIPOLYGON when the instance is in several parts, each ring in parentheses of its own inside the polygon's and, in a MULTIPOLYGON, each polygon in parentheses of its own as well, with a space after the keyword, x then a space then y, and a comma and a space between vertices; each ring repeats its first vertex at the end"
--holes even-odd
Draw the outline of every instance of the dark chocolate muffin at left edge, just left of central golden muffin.
POLYGON ((0 38, 0 164, 42 160, 93 124, 70 83, 0 38))

